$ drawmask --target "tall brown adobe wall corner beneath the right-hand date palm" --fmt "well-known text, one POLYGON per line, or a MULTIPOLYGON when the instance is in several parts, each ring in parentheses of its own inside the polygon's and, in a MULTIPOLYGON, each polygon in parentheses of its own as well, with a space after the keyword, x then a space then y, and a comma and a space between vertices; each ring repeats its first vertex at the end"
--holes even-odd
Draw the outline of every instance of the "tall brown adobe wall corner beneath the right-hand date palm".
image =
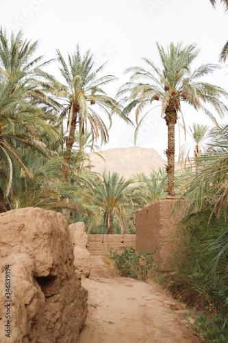
POLYGON ((171 254, 170 235, 180 220, 181 211, 175 217, 171 215, 175 202, 177 198, 167 197, 136 211, 136 251, 151 252, 157 248, 155 257, 160 265, 171 254))

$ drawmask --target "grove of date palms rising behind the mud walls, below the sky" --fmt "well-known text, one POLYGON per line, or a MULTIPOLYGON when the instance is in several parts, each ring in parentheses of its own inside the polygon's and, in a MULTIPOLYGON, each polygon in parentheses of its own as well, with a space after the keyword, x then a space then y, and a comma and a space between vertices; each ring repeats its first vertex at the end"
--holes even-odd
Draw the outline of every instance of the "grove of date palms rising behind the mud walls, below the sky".
MULTIPOLYGON (((227 93, 203 82, 216 64, 192 70, 199 54, 196 45, 157 43, 161 66, 143 59, 146 67, 131 67, 129 82, 116 99, 105 93, 114 75, 103 75, 105 65, 95 67, 90 51, 79 46, 64 58, 56 50, 53 60, 36 56, 37 42, 22 32, 0 32, 0 210, 40 206, 61 211, 69 222, 83 220, 88 230, 113 233, 134 230, 134 211, 165 196, 181 196, 187 181, 175 173, 175 124, 182 102, 201 110, 216 123, 223 117, 227 93), (47 73, 57 64, 61 80, 47 73), (136 115, 136 137, 146 117, 144 109, 159 102, 168 128, 166 173, 151 170, 125 180, 117 173, 94 173, 86 147, 95 151, 109 139, 104 117, 112 125, 119 116, 130 125, 136 115), (210 110, 207 105, 212 105, 210 110), (144 112, 144 113, 143 113, 144 112), (140 119, 140 114, 143 113, 140 119)), ((135 138, 136 138, 135 137, 135 138)), ((183 172, 182 172, 183 174, 183 172)), ((186 171, 184 172, 186 174, 186 171)), ((188 174, 188 173, 187 173, 188 174)))

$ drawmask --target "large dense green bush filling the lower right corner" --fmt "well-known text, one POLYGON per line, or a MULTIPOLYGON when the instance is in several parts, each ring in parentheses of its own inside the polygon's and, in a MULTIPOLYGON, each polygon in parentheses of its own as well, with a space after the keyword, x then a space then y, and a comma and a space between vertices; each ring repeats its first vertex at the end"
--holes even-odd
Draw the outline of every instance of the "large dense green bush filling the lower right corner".
POLYGON ((197 324, 192 323, 194 329, 205 338, 205 342, 223 343, 228 342, 226 213, 212 217, 208 225, 210 214, 211 209, 206 209, 179 223, 170 243, 175 247, 175 254, 166 265, 168 270, 177 272, 168 276, 171 279, 168 289, 175 294, 175 289, 178 293, 181 285, 185 292, 182 299, 205 312, 197 318, 197 324))

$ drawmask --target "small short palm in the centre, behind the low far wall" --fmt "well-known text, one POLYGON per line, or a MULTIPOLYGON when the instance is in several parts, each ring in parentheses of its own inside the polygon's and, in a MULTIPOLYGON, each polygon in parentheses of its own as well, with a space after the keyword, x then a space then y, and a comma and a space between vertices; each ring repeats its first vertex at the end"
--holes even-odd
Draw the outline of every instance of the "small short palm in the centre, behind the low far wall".
POLYGON ((142 204, 144 196, 140 193, 140 187, 130 187, 133 181, 133 179, 125 180, 116 172, 110 174, 110 171, 108 174, 106 171, 103 172, 102 178, 91 180, 94 185, 94 204, 104 213, 107 234, 113 234, 114 215, 118 217, 121 227, 123 227, 125 211, 129 214, 130 210, 132 213, 135 204, 142 204))

